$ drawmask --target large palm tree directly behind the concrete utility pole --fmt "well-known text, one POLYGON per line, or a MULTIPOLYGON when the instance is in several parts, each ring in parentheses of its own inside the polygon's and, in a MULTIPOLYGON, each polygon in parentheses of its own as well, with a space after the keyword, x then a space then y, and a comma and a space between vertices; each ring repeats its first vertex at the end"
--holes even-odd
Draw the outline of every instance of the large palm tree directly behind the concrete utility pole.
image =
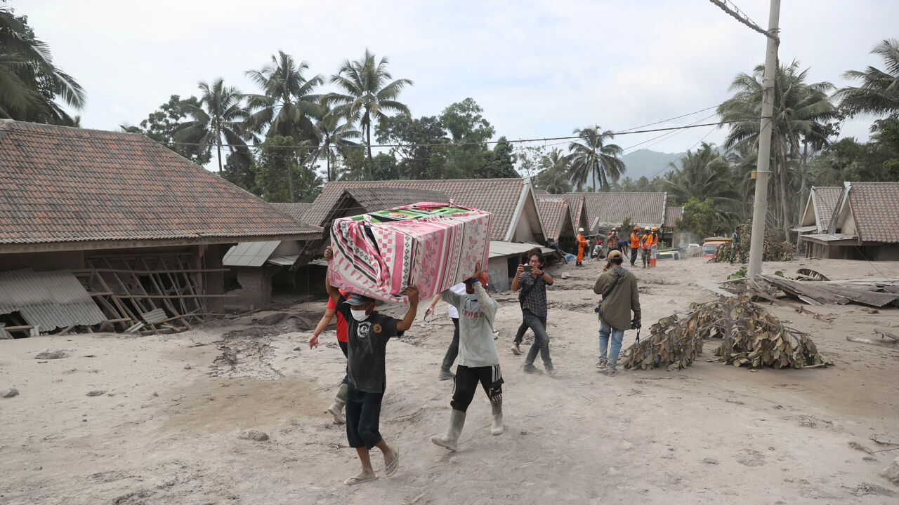
MULTIPOLYGON (((779 66, 774 85, 774 111, 771 123, 771 155, 779 177, 780 224, 789 234, 790 200, 788 199, 788 158, 799 155, 799 144, 808 140, 818 146, 827 142, 829 128, 825 121, 838 117, 828 92, 833 84, 806 83, 808 69, 799 70, 799 63, 779 66)), ((730 133, 725 146, 757 146, 761 117, 761 90, 764 66, 756 66, 752 75, 739 74, 730 91, 734 96, 718 106, 722 126, 728 121, 730 133)))

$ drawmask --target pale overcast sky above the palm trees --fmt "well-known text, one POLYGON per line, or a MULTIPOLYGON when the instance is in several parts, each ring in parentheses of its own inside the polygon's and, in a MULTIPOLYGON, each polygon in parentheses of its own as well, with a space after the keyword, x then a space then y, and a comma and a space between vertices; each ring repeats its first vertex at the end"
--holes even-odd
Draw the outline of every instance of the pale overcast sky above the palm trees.
MULTIPOLYGON (((734 2, 767 28, 769 0, 734 2)), ((510 139, 560 137, 592 124, 621 130, 717 105, 734 75, 751 72, 765 51, 761 34, 708 0, 10 4, 85 87, 82 126, 101 129, 137 124, 170 95, 198 93, 198 82, 219 76, 255 92, 244 71, 278 49, 306 60, 309 76, 330 76, 368 47, 389 58, 395 78, 414 81, 400 100, 415 116, 472 97, 510 139)), ((895 0, 784 0, 779 56, 809 67, 812 82, 840 86, 846 70, 883 67, 869 51, 899 37, 897 20, 895 0)), ((870 122, 848 121, 843 135, 865 139, 870 122)), ((627 148, 658 135, 615 142, 627 148)), ((636 148, 679 152, 702 137, 720 143, 724 131, 682 130, 636 148)))

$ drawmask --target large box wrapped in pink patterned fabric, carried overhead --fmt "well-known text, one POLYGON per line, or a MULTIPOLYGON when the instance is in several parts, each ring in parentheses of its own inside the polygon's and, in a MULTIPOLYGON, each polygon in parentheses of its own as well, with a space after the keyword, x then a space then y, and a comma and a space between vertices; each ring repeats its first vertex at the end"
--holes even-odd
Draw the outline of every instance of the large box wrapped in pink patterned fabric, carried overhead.
POLYGON ((414 284, 432 297, 486 267, 490 213, 452 203, 422 202, 343 217, 331 228, 334 260, 328 280, 376 300, 408 303, 414 284))

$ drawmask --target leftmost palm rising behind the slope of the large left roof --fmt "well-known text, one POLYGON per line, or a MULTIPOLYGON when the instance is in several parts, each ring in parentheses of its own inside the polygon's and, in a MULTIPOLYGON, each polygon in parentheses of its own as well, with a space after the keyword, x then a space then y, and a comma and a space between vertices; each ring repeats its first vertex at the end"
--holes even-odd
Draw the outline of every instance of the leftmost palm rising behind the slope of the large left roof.
POLYGON ((182 141, 194 141, 202 147, 216 146, 218 173, 222 172, 222 144, 233 154, 246 146, 243 129, 248 113, 243 107, 243 94, 234 86, 225 85, 219 77, 211 85, 200 82, 200 106, 182 102, 184 110, 193 118, 178 128, 175 137, 182 141), (222 142, 222 138, 225 142, 222 142))

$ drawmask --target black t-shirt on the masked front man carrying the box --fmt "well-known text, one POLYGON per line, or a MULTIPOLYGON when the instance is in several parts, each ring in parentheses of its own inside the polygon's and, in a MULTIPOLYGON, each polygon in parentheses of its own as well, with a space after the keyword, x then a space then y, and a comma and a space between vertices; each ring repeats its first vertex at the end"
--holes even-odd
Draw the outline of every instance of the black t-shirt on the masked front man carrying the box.
POLYGON ((390 337, 403 336, 403 332, 396 331, 399 320, 374 312, 365 321, 356 321, 345 301, 343 295, 337 300, 337 312, 346 319, 346 375, 360 391, 384 393, 387 388, 385 349, 390 337))

